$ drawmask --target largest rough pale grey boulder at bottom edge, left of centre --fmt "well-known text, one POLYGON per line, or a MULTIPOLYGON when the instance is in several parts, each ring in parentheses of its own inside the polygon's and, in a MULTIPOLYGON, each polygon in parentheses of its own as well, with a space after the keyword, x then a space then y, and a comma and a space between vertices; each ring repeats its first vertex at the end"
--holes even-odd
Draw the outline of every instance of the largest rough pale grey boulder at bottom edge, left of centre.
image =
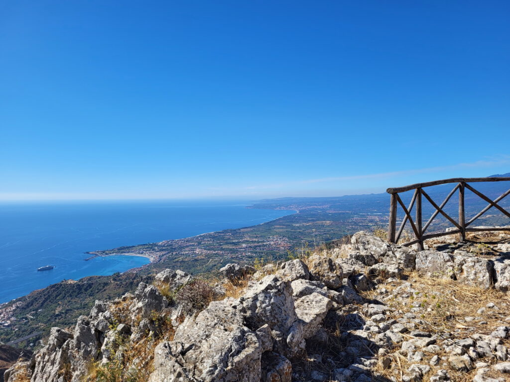
POLYGON ((158 345, 149 382, 259 382, 262 347, 233 299, 212 302, 158 345), (181 378, 181 379, 178 379, 181 378))

